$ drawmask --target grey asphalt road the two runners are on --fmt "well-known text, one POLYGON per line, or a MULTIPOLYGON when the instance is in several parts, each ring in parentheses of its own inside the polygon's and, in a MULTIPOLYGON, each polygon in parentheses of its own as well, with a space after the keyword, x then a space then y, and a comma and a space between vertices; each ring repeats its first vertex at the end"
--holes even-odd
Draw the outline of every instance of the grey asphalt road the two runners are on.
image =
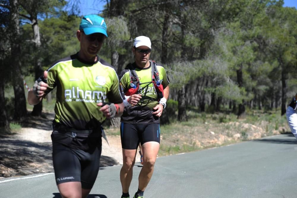
MULTIPOLYGON (((157 159, 146 198, 261 197, 297 198, 297 139, 291 134, 267 137, 157 159)), ((130 194, 138 187, 134 167, 130 194)), ((89 198, 119 198, 121 166, 100 169, 89 198)), ((54 174, 0 180, 0 197, 60 198, 54 174)))

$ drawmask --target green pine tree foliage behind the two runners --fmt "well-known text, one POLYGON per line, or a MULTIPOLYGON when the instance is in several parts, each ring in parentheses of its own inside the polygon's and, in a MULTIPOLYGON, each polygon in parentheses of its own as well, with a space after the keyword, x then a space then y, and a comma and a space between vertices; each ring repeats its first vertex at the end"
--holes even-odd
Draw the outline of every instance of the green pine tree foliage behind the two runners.
MULTIPOLYGON (((10 60, 17 55, 11 54, 10 51, 12 43, 9 38, 13 35, 10 35, 9 29, 10 10, 5 7, 9 1, 1 2, 1 78, 11 87, 14 67, 10 65, 10 60)), ((34 76, 37 55, 40 56, 43 68, 47 69, 56 60, 80 49, 76 31, 81 17, 61 11, 67 1, 21 0, 19 3, 22 22, 21 54, 18 56, 22 60, 24 78, 34 76), (25 23, 32 22, 28 19, 29 16, 38 19, 41 36, 39 50, 36 50, 32 42, 32 25, 25 23)), ((68 6, 79 4, 76 1, 68 3, 68 6)), ((265 110, 271 109, 271 104, 280 106, 277 98, 282 96, 282 72, 297 69, 295 8, 282 7, 282 0, 210 0, 182 3, 148 0, 114 3, 113 8, 109 4, 101 13, 106 19, 109 35, 100 51, 100 57, 106 61, 110 62, 111 52, 116 52, 121 58, 119 64, 125 65, 133 58, 132 38, 145 35, 151 38, 151 59, 157 62, 165 60, 173 93, 170 93, 170 97, 176 100, 176 90, 187 85, 188 107, 202 107, 204 102, 206 111, 215 113, 215 106, 209 106, 211 94, 215 95, 215 100, 221 99, 221 106, 228 105, 229 101, 237 104, 252 101, 252 109, 257 107, 255 103, 260 102, 265 110), (147 20, 148 16, 150 20, 147 20), (241 85, 237 79, 239 68, 242 68, 241 85)), ((73 10, 73 13, 75 11, 77 10, 73 10)), ((289 101, 296 92, 297 81, 294 75, 287 75, 285 81, 288 82, 289 101)), ((5 97, 11 114, 13 93, 7 90, 5 97)), ((167 110, 175 117, 178 107, 173 104, 171 107, 170 102, 167 102, 167 110)), ((46 106, 52 109, 53 103, 45 103, 46 106)), ((190 111, 189 114, 195 117, 195 112, 190 111)), ((222 123, 226 121, 224 117, 217 120, 222 123)), ((274 128, 281 125, 279 122, 274 123, 274 128)))

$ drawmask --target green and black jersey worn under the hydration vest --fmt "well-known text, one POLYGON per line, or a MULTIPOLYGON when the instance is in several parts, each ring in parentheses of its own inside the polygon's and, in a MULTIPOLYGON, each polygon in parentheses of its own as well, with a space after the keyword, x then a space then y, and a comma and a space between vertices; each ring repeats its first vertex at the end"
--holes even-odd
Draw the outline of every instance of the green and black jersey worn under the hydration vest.
MULTIPOLYGON (((162 85, 165 89, 165 87, 167 87, 170 83, 168 76, 165 68, 158 63, 156 64, 159 72, 159 78, 160 80, 163 80, 162 85)), ((125 107, 124 113, 121 117, 121 122, 131 124, 159 123, 159 117, 153 116, 152 114, 152 109, 159 104, 158 101, 156 101, 157 95, 152 83, 152 67, 150 65, 147 68, 139 68, 135 62, 132 63, 132 66, 140 81, 138 93, 140 93, 142 97, 146 96, 152 98, 153 100, 144 99, 140 100, 138 105, 125 107)), ((123 92, 125 93, 130 88, 130 75, 127 67, 121 72, 119 78, 123 92)))

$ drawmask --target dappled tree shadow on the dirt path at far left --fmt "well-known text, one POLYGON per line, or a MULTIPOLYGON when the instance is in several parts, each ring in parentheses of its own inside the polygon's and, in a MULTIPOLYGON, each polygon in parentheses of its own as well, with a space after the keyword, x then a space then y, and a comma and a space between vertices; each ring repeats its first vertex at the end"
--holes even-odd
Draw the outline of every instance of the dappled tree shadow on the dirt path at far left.
POLYGON ((0 176, 12 177, 53 172, 51 143, 16 138, 0 139, 0 176))

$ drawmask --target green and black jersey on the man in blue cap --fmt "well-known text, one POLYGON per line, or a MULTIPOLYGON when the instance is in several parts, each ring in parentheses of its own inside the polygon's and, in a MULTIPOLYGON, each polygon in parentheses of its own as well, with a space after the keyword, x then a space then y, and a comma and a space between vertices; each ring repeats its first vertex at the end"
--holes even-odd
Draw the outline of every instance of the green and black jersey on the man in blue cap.
POLYGON ((121 103, 119 78, 114 68, 97 56, 85 62, 74 54, 48 69, 48 89, 57 87, 55 122, 76 129, 97 128, 105 119, 96 104, 121 103))

